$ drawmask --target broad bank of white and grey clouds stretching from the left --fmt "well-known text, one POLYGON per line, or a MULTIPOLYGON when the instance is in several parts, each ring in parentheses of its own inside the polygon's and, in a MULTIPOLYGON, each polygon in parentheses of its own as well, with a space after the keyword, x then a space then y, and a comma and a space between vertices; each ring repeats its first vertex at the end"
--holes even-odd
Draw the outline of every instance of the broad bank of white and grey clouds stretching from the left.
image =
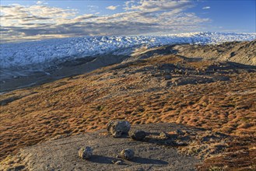
POLYGON ((77 9, 51 7, 43 2, 30 6, 1 5, 1 38, 4 43, 86 35, 195 31, 202 29, 210 19, 184 12, 192 6, 191 1, 129 1, 124 3, 123 12, 100 16, 96 13, 79 15, 77 9))

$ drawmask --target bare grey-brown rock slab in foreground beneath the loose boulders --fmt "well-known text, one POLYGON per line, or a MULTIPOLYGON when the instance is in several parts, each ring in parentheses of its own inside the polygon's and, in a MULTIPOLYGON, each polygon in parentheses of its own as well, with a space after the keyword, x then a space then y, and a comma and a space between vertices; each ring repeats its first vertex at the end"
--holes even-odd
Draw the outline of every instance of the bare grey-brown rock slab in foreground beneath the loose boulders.
POLYGON ((28 170, 195 170, 195 165, 200 163, 194 157, 180 155, 177 148, 171 148, 171 145, 160 145, 156 139, 157 132, 161 130, 174 131, 179 128, 195 131, 195 128, 177 124, 146 124, 133 128, 147 131, 148 139, 133 141, 125 135, 112 138, 103 135, 104 131, 97 131, 24 148, 15 157, 2 162, 2 165, 5 169, 23 166, 23 169, 28 170), (93 148, 91 159, 79 158, 79 148, 84 145, 93 148), (135 158, 131 161, 117 158, 124 148, 133 149, 135 158), (116 165, 112 162, 114 160, 123 162, 116 165), (8 164, 10 162, 12 164, 8 164))

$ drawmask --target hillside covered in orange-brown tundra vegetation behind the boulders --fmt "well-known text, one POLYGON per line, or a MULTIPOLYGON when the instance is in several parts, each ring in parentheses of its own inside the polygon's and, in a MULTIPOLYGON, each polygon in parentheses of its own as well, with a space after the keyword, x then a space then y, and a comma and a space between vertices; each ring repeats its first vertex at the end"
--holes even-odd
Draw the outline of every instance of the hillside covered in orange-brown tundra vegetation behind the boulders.
MULTIPOLYGON (((226 46, 230 51, 235 48, 231 43, 226 46)), ((132 124, 187 124, 248 140, 237 141, 237 149, 221 161, 240 159, 237 156, 244 152, 254 154, 256 67, 187 58, 180 49, 188 45, 174 47, 138 50, 120 64, 2 94, 1 159, 28 145, 96 131, 109 120, 123 119, 132 124)), ((203 48, 208 47, 199 46, 195 53, 203 48)), ((244 160, 240 166, 227 161, 225 165, 254 167, 244 160)), ((218 159, 211 161, 223 165, 218 159)))

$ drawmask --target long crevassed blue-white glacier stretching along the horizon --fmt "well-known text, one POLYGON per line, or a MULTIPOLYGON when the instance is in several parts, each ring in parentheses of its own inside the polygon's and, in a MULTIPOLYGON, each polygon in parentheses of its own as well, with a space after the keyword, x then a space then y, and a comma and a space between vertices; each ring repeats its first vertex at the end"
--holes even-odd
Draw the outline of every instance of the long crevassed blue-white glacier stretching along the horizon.
POLYGON ((220 44, 256 39, 256 33, 179 33, 160 36, 70 37, 0 44, 1 69, 43 71, 65 61, 100 54, 129 55, 135 48, 167 44, 220 44))

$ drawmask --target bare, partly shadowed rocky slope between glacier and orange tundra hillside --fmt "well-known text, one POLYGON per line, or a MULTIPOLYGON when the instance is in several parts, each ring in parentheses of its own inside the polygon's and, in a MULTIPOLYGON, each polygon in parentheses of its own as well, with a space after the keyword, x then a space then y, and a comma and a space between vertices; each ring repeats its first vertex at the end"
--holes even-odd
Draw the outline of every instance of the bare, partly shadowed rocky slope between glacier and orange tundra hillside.
MULTIPOLYGON (((130 49, 131 50, 131 49, 130 49)), ((233 61, 244 65, 256 65, 256 40, 251 42, 228 42, 219 45, 166 45, 160 47, 134 48, 127 54, 99 54, 93 57, 75 58, 58 61, 54 67, 47 70, 32 71, 31 69, 16 71, 16 69, 0 69, 0 92, 20 89, 27 86, 41 85, 71 75, 81 75, 86 72, 121 62, 137 61, 163 54, 179 54, 187 58, 233 61)))

